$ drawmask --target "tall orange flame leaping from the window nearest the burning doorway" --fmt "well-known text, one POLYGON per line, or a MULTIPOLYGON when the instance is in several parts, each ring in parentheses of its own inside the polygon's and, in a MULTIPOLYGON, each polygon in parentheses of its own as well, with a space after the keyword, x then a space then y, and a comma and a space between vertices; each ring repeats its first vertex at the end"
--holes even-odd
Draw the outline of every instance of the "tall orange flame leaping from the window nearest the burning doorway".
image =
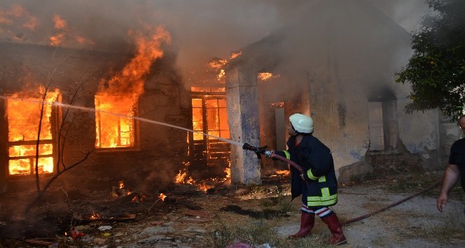
POLYGON ((144 79, 153 62, 162 57, 162 43, 170 39, 169 33, 161 27, 149 37, 138 34, 135 57, 109 81, 102 79, 95 97, 97 147, 134 146, 134 120, 131 117, 135 115, 139 96, 144 93, 144 79))

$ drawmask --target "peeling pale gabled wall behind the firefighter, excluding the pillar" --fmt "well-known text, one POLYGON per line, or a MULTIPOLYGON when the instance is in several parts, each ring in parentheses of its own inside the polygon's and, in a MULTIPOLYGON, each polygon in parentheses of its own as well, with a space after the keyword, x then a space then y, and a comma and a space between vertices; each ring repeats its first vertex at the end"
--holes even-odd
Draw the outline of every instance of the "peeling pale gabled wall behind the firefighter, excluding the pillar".
MULTIPOLYGON (((243 48, 241 57, 230 62, 237 68, 279 75, 259 93, 261 109, 284 101, 286 117, 310 114, 314 136, 333 152, 336 171, 351 167, 342 170, 342 181, 356 174, 384 174, 389 163, 433 170, 443 156, 438 111, 405 113, 410 85, 394 82, 396 71, 412 54, 405 29, 366 1, 321 1, 296 20, 243 48), (389 126, 385 132, 391 151, 369 152, 370 101, 387 106, 384 123, 389 126)), ((262 132, 261 137, 268 134, 262 132)))

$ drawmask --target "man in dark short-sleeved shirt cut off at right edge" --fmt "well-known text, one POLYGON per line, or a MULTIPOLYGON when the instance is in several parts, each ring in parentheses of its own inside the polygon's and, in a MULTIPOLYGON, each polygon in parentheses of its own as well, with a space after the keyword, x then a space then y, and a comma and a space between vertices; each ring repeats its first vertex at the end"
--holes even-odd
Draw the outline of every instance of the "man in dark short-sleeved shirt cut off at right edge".
MULTIPOLYGON (((465 115, 459 118, 459 127, 465 135, 465 115)), ((465 138, 457 140, 450 148, 449 165, 445 169, 436 203, 439 212, 443 212, 443 207, 447 205, 447 197, 459 179, 461 188, 465 191, 465 138)))

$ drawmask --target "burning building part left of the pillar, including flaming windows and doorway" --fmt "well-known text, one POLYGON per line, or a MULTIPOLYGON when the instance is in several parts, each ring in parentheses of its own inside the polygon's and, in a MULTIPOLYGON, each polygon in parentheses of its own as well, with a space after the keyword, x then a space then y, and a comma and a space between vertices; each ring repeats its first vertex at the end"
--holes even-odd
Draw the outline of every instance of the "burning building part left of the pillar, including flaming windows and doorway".
POLYGON ((117 50, 1 43, 2 185, 228 177, 229 144, 212 138, 229 139, 224 87, 185 90, 162 27, 130 38, 117 50))

